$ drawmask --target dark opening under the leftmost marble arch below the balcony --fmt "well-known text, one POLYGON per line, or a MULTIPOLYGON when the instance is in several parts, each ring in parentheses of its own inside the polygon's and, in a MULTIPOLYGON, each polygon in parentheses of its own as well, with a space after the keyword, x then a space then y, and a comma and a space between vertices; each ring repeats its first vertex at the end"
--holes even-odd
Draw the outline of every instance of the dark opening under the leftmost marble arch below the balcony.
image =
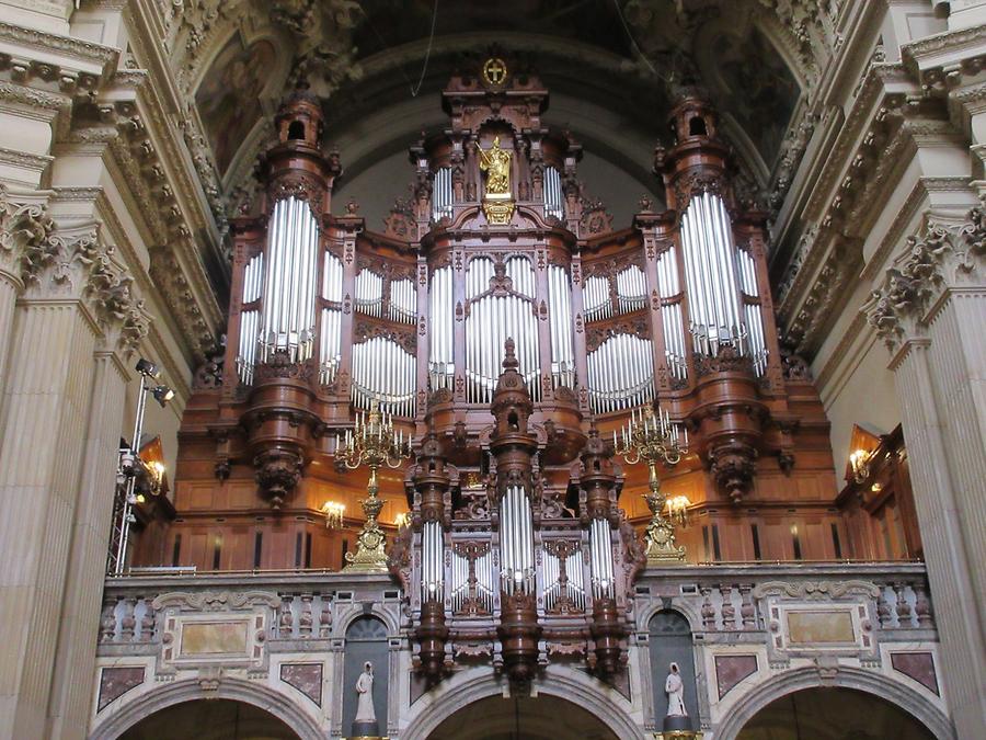
POLYGON ((121 740, 299 740, 280 719, 232 699, 182 702, 153 713, 126 730, 121 740))

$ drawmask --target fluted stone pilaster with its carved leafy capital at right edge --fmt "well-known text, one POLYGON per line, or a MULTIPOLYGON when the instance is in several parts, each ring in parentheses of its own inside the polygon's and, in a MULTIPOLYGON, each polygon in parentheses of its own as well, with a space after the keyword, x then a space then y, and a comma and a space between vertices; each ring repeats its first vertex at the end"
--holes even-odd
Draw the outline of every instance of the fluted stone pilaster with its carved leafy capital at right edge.
POLYGON ((986 223, 930 221, 865 307, 894 352, 915 502, 959 737, 986 716, 986 223))

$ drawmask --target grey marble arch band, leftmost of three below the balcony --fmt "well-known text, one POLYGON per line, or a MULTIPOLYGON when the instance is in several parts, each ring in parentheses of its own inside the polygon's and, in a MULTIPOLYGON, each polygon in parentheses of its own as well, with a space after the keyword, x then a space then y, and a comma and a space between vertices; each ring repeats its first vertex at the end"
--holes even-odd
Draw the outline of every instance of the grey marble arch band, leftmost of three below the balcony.
POLYGON ((290 697, 263 684, 239 679, 221 679, 214 691, 205 691, 198 681, 177 681, 173 684, 152 688, 123 706, 105 721, 95 727, 91 740, 115 740, 124 731, 145 717, 173 707, 184 702, 207 698, 225 698, 251 704, 274 715, 301 738, 321 738, 328 732, 319 722, 306 714, 290 697))

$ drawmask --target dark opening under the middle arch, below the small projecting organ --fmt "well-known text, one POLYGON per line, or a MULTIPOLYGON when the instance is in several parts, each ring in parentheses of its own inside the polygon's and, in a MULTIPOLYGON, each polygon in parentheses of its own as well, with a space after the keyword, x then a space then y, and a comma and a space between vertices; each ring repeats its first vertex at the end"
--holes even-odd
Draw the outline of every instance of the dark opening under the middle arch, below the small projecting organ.
POLYGON ((428 740, 620 740, 603 720, 557 696, 490 696, 447 717, 428 740))

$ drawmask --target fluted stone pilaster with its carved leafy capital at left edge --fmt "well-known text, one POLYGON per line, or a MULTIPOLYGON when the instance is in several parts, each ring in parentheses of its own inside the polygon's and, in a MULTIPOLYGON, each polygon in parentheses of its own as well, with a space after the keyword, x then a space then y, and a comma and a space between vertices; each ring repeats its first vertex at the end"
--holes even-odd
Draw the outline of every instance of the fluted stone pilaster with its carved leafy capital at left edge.
POLYGON ((15 738, 48 737, 79 471, 90 418, 106 411, 94 406, 93 354, 106 327, 142 335, 129 277, 94 225, 53 236, 38 266, 13 318, 0 420, 0 737, 15 738))

